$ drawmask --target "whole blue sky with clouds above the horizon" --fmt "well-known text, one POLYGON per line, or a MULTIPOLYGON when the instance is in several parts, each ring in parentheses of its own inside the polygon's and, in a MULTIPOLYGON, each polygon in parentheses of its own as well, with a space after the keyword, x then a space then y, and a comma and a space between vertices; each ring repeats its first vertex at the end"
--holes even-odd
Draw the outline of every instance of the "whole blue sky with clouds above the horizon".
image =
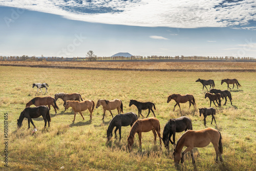
POLYGON ((0 55, 256 57, 256 1, 0 0, 0 55))

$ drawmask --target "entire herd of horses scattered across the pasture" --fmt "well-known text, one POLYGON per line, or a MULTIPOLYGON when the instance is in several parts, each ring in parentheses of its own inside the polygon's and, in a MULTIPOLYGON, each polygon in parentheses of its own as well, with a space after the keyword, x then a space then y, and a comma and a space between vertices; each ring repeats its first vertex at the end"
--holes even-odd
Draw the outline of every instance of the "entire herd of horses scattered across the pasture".
MULTIPOLYGON (((206 92, 205 93, 205 98, 208 97, 210 100, 210 106, 211 106, 211 102, 213 102, 215 104, 215 101, 217 102, 217 104, 220 106, 221 105, 221 98, 225 98, 225 104, 227 102, 227 97, 229 98, 231 105, 232 105, 232 97, 231 97, 231 93, 228 90, 217 90, 217 89, 213 89, 215 87, 215 82, 214 80, 203 80, 203 79, 198 79, 196 80, 196 82, 201 82, 203 84, 203 89, 204 87, 206 88, 206 86, 210 86, 210 92, 206 92)), ((229 84, 233 84, 234 87, 234 83, 237 84, 237 88, 241 87, 241 85, 239 84, 237 79, 223 79, 221 81, 221 84, 223 82, 226 82, 227 85, 229 84)), ((40 83, 37 83, 40 84, 40 83)), ((42 85, 47 85, 46 83, 43 83, 42 85)), ((34 84, 33 84, 34 87, 34 84)), ((46 87, 46 86, 45 86, 46 87)), ((38 89, 40 89, 37 86, 38 89)), ((229 88, 229 86, 228 86, 229 88)), ((207 88, 206 88, 207 89, 207 88)), ((230 88, 229 88, 230 89, 230 88)), ((46 88, 47 91, 47 88, 46 88)), ((207 89, 208 91, 208 89, 207 89)), ((39 116, 42 116, 44 118, 45 121, 45 127, 47 125, 48 122, 48 126, 50 127, 50 121, 51 121, 51 116, 50 116, 50 106, 52 105, 54 110, 55 110, 55 114, 57 114, 57 110, 59 110, 56 101, 57 99, 62 99, 63 100, 63 106, 65 106, 65 111, 67 109, 69 109, 70 107, 73 109, 74 111, 74 120, 75 121, 75 117, 77 112, 82 116, 83 120, 83 114, 81 113, 82 111, 86 111, 89 110, 90 112, 90 119, 92 119, 92 113, 94 111, 94 107, 96 107, 96 109, 102 105, 103 108, 103 118, 105 116, 105 111, 109 111, 110 114, 112 115, 112 120, 109 124, 108 130, 106 131, 106 138, 107 140, 111 140, 111 138, 113 137, 113 130, 115 129, 115 138, 117 138, 117 130, 119 130, 119 140, 121 140, 121 127, 122 126, 131 126, 131 131, 130 131, 130 135, 127 138, 127 142, 128 142, 128 149, 131 150, 131 147, 134 143, 134 137, 135 134, 138 134, 139 137, 139 145, 141 147, 141 133, 142 132, 150 132, 152 131, 154 134, 154 142, 156 143, 156 139, 157 136, 159 137, 159 141, 160 141, 160 146, 161 146, 161 142, 163 141, 164 146, 169 149, 169 142, 172 143, 174 145, 174 162, 175 164, 179 164, 179 162, 181 161, 181 163, 184 161, 184 154, 186 152, 190 151, 190 155, 192 158, 192 162, 195 163, 195 159, 194 159, 194 155, 193 155, 193 148, 194 147, 205 147, 207 146, 210 142, 214 145, 215 151, 216 151, 216 162, 218 162, 218 157, 220 158, 220 161, 223 161, 222 159, 222 152, 223 152, 223 147, 222 147, 222 142, 221 142, 221 133, 216 130, 216 129, 212 129, 212 128, 206 128, 203 130, 199 130, 199 131, 194 131, 193 130, 193 126, 192 126, 192 122, 191 119, 189 119, 186 116, 182 116, 180 118, 174 118, 174 119, 170 119, 164 126, 164 130, 163 130, 163 137, 161 137, 161 133, 160 133, 160 122, 159 120, 156 118, 156 115, 153 111, 156 110, 156 106, 153 102, 140 102, 137 100, 130 100, 129 106, 131 105, 135 105, 138 109, 138 115, 140 117, 140 115, 143 117, 143 119, 138 119, 138 115, 136 115, 133 112, 129 112, 129 113, 125 113, 125 114, 121 114, 123 113, 123 103, 120 99, 114 99, 114 100, 105 100, 105 99, 99 99, 95 105, 95 102, 93 100, 83 100, 81 95, 78 93, 72 93, 72 94, 68 94, 68 93, 57 93, 55 94, 54 98, 48 96, 48 97, 35 97, 32 100, 30 100, 27 104, 26 104, 26 108, 22 111, 22 113, 20 113, 19 118, 17 119, 17 127, 19 129, 19 127, 22 126, 22 122, 24 120, 24 118, 28 119, 28 127, 30 128, 30 122, 32 123, 32 125, 34 126, 34 128, 36 128, 36 126, 34 125, 32 118, 37 118, 39 116), (30 106, 34 104, 36 107, 34 108, 30 108, 30 106), (112 114, 112 110, 117 109, 118 115, 116 115, 115 117, 112 114), (141 114, 142 110, 148 110, 148 114, 146 116, 146 118, 144 118, 144 116, 141 114), (153 113, 154 117, 150 117, 147 118, 148 115, 150 114, 150 112, 153 113), (185 133, 180 137, 180 139, 177 141, 177 144, 175 143, 175 134, 180 133, 185 131, 185 133), (173 136, 173 141, 171 140, 171 137, 173 136), (182 148, 186 146, 187 148, 185 149, 185 151, 182 151, 182 148)), ((180 108, 180 103, 186 103, 187 101, 189 102, 189 108, 191 106, 191 104, 194 105, 194 107, 196 108, 196 101, 193 95, 191 94, 186 94, 186 95, 180 95, 180 94, 172 94, 169 95, 167 98, 167 103, 170 102, 171 100, 175 100, 176 104, 174 106, 174 110, 175 111, 175 107, 176 105, 179 105, 180 108)), ((225 105, 224 104, 224 105, 225 105)), ((216 105, 216 104, 215 104, 216 105)), ((217 106, 217 105, 216 105, 217 106)), ((180 112, 181 112, 181 108, 180 108, 180 112)), ((200 116, 203 114, 204 116, 204 125, 206 126, 206 117, 211 115, 212 116, 212 120, 211 120, 211 124, 212 121, 215 120, 215 115, 216 115, 216 110, 214 108, 199 108, 199 113, 200 116)), ((215 120, 216 123, 216 120, 215 120)))

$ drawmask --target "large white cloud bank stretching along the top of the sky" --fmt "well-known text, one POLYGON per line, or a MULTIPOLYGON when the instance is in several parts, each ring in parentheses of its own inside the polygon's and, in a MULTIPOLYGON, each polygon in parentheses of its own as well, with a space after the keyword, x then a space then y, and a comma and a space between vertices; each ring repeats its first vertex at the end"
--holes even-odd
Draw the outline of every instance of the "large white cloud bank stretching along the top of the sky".
MULTIPOLYGON (((145 27, 246 27, 256 20, 256 1, 224 0, 0 0, 9 6, 61 15, 84 22, 145 27)), ((255 27, 253 27, 255 29, 255 27)), ((252 28, 252 29, 253 29, 252 28)))

